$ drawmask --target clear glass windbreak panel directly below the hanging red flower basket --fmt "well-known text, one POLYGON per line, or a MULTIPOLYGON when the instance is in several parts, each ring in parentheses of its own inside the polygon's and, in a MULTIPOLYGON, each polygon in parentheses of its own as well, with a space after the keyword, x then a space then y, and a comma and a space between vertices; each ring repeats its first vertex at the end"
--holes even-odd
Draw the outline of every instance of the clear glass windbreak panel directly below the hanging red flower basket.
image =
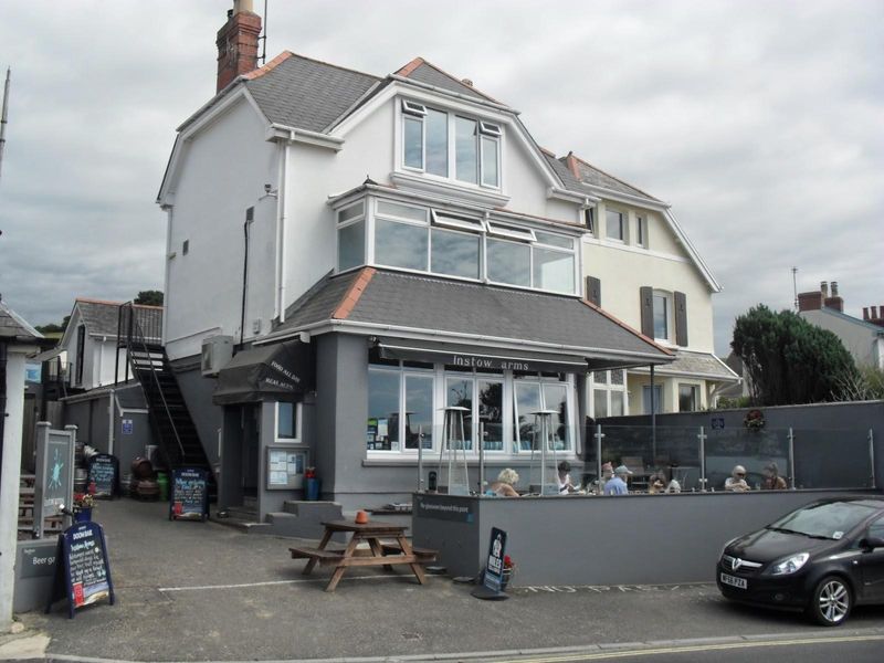
MULTIPOLYGON (((743 478, 745 488, 757 491, 767 487, 769 474, 789 477, 788 430, 746 428, 725 428, 707 431, 706 440, 706 487, 716 491, 732 490, 735 481, 743 478), (735 476, 737 466, 745 470, 743 477, 735 476), (771 472, 772 471, 772 472, 771 472)), ((848 456, 839 456, 848 457, 848 456)), ((835 460, 834 464, 839 462, 835 460)), ((824 471, 831 466, 820 464, 824 471)))

